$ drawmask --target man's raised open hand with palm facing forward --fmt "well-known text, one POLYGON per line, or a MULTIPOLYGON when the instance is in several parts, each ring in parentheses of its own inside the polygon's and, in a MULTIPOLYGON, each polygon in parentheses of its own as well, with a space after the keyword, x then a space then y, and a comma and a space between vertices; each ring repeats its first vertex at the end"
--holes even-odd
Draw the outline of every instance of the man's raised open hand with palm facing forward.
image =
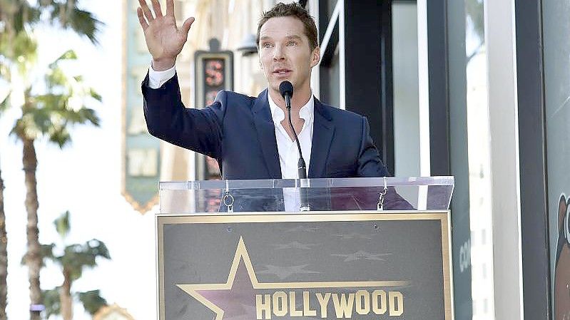
POLYGON ((153 56, 153 69, 163 71, 174 66, 176 56, 182 51, 188 39, 188 31, 194 22, 190 17, 184 21, 180 29, 174 18, 174 0, 166 0, 166 14, 161 11, 158 0, 151 0, 153 12, 146 0, 138 0, 141 6, 137 8, 138 22, 145 33, 146 46, 153 56))

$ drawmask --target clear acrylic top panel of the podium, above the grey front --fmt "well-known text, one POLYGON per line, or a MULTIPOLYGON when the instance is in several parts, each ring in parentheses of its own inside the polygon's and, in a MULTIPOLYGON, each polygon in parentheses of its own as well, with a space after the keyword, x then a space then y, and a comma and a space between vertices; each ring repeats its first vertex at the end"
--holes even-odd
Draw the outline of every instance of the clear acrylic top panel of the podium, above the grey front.
POLYGON ((302 192, 310 211, 377 210, 385 189, 383 210, 448 210, 453 187, 453 177, 161 182, 160 212, 299 212, 302 192))

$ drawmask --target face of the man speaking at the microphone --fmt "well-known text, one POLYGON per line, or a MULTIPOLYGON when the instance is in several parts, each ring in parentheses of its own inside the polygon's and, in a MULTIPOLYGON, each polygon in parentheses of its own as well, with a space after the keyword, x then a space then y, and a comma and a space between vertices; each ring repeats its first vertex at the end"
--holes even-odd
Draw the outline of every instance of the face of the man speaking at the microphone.
POLYGON ((271 18, 261 26, 259 58, 269 88, 279 92, 281 82, 293 88, 310 88, 311 68, 320 59, 319 48, 311 50, 302 22, 293 16, 271 18))

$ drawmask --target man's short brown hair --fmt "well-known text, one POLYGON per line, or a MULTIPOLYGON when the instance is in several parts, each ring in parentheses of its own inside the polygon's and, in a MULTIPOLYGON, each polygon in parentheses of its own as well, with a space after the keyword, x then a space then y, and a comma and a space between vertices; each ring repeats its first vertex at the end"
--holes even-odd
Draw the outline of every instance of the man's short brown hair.
POLYGON ((255 39, 255 43, 258 44, 259 47, 259 33, 261 31, 261 26, 265 24, 271 18, 277 18, 280 16, 294 16, 295 18, 299 19, 302 24, 305 26, 305 35, 309 38, 309 45, 311 46, 311 51, 319 46, 319 41, 317 39, 317 25, 315 25, 315 20, 312 19, 312 16, 297 2, 293 2, 291 4, 283 4, 278 3, 275 4, 273 8, 269 11, 266 11, 261 16, 258 24, 258 37, 255 39))

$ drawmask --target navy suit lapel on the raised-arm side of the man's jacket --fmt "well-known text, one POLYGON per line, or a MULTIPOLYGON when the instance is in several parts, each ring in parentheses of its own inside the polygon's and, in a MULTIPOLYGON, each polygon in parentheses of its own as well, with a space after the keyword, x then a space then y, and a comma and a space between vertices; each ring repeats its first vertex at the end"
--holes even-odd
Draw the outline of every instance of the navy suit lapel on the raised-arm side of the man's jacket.
POLYGON ((255 123, 255 129, 258 131, 258 140, 269 175, 272 179, 281 179, 281 165, 277 139, 275 138, 275 125, 273 124, 273 118, 271 118, 267 89, 260 93, 255 100, 252 111, 253 122, 255 123))

